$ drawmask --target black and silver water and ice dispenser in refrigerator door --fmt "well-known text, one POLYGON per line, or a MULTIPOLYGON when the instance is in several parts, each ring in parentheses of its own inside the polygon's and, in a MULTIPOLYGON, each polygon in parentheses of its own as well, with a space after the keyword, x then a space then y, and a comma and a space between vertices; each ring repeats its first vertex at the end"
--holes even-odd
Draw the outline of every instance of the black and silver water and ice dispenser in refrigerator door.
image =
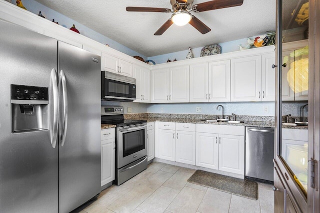
POLYGON ((49 129, 47 87, 11 84, 11 132, 49 129))

